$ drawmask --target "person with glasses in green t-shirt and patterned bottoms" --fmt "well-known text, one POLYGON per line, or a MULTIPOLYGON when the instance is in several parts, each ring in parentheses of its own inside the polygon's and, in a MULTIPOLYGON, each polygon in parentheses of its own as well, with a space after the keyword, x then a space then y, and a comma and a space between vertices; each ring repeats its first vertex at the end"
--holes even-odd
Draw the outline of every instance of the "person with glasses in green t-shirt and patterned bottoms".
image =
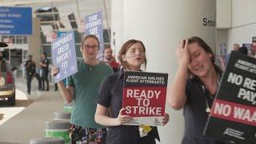
MULTIPOLYGON (((102 79, 112 74, 113 70, 96 56, 99 41, 95 35, 86 35, 82 39, 82 60, 78 61, 78 72, 66 78, 66 87, 62 81, 58 88, 67 103, 74 101, 70 119, 71 143, 105 143, 106 128, 94 121, 98 87, 102 79)), ((58 74, 58 67, 53 66, 51 75, 58 74)))

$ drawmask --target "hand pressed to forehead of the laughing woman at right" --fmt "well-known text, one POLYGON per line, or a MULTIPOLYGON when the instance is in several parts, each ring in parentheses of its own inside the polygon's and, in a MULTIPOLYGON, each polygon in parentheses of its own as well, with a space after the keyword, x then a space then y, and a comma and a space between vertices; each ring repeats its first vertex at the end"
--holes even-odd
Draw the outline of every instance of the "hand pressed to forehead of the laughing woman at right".
POLYGON ((178 63, 181 64, 186 64, 188 65, 190 62, 190 54, 188 51, 188 39, 182 39, 179 42, 178 49, 176 50, 176 55, 178 58, 178 63))

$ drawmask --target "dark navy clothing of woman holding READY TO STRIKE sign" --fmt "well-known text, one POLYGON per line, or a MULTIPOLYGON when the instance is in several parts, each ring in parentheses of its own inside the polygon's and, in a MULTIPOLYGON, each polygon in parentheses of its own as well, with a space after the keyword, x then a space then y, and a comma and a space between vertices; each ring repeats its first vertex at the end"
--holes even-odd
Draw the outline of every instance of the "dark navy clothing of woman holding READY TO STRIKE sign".
MULTIPOLYGON (((118 118, 122 109, 123 78, 123 70, 111 74, 103 80, 98 91, 98 104, 110 107, 111 118, 118 118)), ((140 138, 138 126, 109 126, 106 144, 150 144, 155 142, 155 138, 159 140, 156 127, 146 137, 140 138)))

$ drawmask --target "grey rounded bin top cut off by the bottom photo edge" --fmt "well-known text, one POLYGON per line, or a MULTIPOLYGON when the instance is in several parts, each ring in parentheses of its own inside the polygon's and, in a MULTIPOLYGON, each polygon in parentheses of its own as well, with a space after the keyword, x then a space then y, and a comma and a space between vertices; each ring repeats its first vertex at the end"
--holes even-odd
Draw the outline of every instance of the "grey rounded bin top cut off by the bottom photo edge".
POLYGON ((32 138, 30 144, 65 144, 63 139, 60 138, 32 138))

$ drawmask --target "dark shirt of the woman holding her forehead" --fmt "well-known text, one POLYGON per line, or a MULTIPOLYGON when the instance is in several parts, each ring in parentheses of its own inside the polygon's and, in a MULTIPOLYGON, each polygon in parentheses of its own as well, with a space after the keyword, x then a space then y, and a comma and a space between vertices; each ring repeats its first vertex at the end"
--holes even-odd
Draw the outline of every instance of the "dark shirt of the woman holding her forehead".
POLYGON ((214 138, 203 136, 208 113, 206 113, 206 99, 212 105, 214 95, 209 95, 207 90, 203 90, 202 82, 199 78, 189 78, 186 82, 186 105, 184 106, 185 135, 182 144, 225 144, 216 142, 214 138))

